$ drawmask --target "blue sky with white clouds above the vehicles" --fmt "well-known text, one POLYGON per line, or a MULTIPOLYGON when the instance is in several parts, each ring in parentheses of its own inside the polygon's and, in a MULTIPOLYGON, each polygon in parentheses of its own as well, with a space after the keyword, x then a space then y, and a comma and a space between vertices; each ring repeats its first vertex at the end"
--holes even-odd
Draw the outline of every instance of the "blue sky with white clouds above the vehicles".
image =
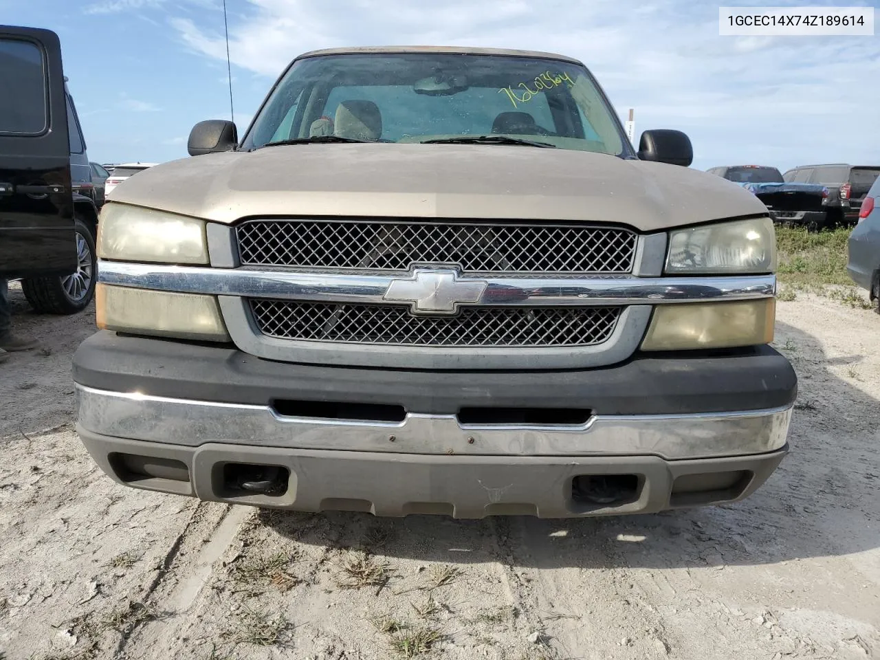
MULTIPOLYGON (((236 123, 314 48, 529 48, 581 59, 636 133, 684 130, 700 169, 880 161, 880 36, 721 37, 719 4, 227 0, 236 123)), ((878 6, 812 3, 832 4, 878 6)), ((61 37, 92 160, 182 158, 196 121, 229 117, 222 0, 0 0, 0 17, 61 37)))

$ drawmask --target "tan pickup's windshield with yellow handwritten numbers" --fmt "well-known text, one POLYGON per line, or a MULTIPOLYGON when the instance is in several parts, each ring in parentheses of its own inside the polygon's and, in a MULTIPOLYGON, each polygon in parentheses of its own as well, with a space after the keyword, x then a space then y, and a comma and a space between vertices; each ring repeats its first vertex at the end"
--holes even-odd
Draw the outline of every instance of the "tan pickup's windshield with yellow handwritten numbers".
POLYGON ((513 136, 559 149, 629 153, 587 70, 510 55, 304 58, 277 85, 242 148, 319 136, 383 143, 513 136))

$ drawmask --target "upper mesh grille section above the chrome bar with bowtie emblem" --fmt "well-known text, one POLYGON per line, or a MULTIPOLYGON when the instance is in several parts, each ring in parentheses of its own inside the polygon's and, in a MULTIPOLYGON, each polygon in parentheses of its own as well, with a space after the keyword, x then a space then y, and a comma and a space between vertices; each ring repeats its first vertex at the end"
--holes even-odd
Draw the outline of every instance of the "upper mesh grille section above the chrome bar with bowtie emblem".
POLYGON ((238 225, 247 266, 406 271, 458 264, 469 273, 622 274, 636 235, 619 228, 374 220, 251 220, 238 225))

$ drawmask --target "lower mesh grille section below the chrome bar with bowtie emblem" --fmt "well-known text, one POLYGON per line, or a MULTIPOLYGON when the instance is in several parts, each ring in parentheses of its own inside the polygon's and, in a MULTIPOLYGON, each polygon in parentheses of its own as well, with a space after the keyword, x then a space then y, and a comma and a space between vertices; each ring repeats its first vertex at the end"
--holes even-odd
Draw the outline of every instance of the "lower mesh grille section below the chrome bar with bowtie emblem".
POLYGON ((464 307, 456 317, 413 316, 406 305, 299 303, 253 298, 270 337, 396 346, 590 346, 611 336, 620 307, 464 307))

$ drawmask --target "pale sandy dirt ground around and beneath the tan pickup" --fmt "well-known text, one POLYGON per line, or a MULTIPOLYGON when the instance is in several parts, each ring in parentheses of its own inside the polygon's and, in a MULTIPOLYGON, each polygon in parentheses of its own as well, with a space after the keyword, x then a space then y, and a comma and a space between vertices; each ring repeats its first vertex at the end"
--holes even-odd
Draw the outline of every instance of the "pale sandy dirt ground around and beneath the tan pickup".
POLYGON ((73 430, 92 317, 0 365, 0 658, 880 657, 880 318, 798 294, 793 451, 662 515, 302 515, 123 488, 73 430))

